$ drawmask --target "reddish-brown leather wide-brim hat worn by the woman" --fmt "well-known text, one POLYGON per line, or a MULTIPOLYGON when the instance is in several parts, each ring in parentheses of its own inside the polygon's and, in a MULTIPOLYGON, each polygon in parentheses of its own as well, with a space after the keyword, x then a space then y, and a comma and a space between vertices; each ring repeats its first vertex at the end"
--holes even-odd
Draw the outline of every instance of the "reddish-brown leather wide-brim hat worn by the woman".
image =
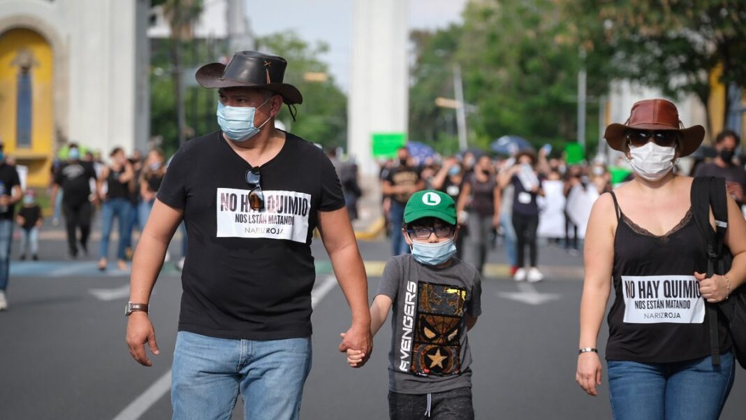
POLYGON ((678 131, 681 134, 680 157, 694 153, 704 140, 704 127, 693 125, 683 128, 676 105, 665 99, 645 99, 636 102, 632 106, 627 122, 606 127, 604 139, 614 150, 624 152, 627 131, 630 129, 678 131))

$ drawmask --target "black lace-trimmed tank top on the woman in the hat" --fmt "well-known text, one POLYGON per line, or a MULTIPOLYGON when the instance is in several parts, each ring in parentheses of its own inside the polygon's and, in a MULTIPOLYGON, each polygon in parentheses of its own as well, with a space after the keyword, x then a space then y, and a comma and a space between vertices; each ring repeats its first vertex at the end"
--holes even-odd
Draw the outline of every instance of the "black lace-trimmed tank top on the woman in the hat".
MULTIPOLYGON (((669 363, 709 356, 708 316, 694 277, 705 272, 707 256, 691 208, 671 231, 655 236, 627 219, 611 195, 618 224, 606 360, 669 363)), ((718 332, 720 349, 727 351, 732 344, 722 322, 718 332)))

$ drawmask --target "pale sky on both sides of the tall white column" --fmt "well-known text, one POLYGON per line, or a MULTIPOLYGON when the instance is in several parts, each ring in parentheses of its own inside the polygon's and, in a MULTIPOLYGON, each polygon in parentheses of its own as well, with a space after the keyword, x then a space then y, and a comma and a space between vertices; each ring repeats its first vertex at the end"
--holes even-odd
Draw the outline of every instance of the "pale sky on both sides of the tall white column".
MULTIPOLYGON (((409 0, 410 28, 435 29, 460 22, 467 1, 409 0)), ((246 10, 251 29, 259 36, 292 29, 311 43, 321 40, 329 44, 330 51, 322 60, 329 64, 339 86, 347 91, 353 4, 353 0, 246 0, 246 10)))

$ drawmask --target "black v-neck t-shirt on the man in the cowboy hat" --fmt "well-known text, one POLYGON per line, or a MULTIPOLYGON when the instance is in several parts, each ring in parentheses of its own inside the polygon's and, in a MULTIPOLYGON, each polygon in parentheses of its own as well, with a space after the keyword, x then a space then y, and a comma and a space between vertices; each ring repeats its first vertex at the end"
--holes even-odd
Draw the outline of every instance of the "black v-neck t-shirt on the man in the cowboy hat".
POLYGON ((261 211, 249 207, 250 168, 219 131, 184 143, 169 164, 157 198, 184 210, 189 236, 179 330, 228 339, 310 336, 311 236, 318 211, 345 206, 342 188, 324 152, 289 133, 260 166, 261 211))

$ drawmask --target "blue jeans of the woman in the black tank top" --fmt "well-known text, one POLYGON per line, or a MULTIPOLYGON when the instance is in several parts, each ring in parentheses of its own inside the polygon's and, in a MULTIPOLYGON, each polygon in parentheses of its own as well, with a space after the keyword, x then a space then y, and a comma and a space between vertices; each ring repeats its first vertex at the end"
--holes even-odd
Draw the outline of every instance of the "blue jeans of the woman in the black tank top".
POLYGON ((733 386, 733 353, 676 363, 609 360, 615 420, 717 420, 733 386))

